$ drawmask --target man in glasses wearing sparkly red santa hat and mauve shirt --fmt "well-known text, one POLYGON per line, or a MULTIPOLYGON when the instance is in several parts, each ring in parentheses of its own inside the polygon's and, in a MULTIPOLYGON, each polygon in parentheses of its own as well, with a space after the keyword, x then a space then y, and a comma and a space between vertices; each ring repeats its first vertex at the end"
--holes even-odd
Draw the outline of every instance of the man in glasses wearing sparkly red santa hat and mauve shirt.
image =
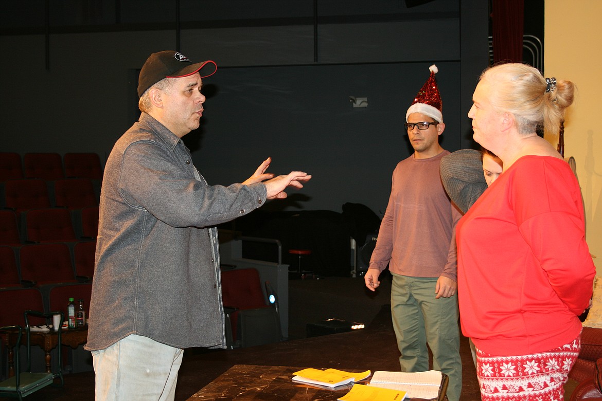
POLYGON ((406 113, 405 129, 414 153, 393 171, 391 195, 376 248, 365 274, 368 289, 379 286, 389 265, 391 316, 403 372, 433 370, 449 376, 447 397, 462 390, 459 354, 458 276, 453 229, 461 217, 445 193, 439 162, 450 152, 439 145, 445 129, 436 66, 406 113))

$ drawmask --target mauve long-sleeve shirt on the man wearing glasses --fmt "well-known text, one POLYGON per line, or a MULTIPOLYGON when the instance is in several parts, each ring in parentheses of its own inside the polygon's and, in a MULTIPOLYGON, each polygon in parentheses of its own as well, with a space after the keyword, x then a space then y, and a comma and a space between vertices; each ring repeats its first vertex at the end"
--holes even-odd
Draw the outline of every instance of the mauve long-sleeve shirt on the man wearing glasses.
POLYGON ((397 164, 370 269, 383 271, 389 264, 395 274, 458 280, 452 238, 461 214, 439 175, 441 158, 448 154, 444 150, 428 159, 412 154, 397 164))

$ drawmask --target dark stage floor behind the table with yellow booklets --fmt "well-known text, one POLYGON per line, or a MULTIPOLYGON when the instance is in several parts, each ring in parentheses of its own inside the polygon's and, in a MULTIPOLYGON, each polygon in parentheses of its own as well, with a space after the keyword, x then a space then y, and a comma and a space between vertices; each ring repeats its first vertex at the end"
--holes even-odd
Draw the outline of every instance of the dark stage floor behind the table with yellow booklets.
MULTIPOLYGON (((389 315, 390 285, 384 281, 377 293, 371 293, 363 283, 362 278, 291 280, 290 340, 237 350, 186 350, 179 371, 176 400, 187 400, 234 364, 399 370, 399 351, 389 315), (367 328, 305 338, 307 323, 330 318, 365 323, 367 328)), ((480 397, 474 365, 468 341, 462 340, 462 400, 477 401, 480 397)), ((64 387, 44 388, 26 400, 92 401, 94 373, 66 375, 64 387)))

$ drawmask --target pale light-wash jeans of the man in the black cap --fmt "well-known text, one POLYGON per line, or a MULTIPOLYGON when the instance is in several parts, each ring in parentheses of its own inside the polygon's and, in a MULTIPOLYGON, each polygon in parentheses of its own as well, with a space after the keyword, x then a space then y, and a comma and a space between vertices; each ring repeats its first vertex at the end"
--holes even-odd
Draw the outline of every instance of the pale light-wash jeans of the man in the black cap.
POLYGON ((92 351, 96 401, 173 401, 182 351, 135 334, 92 351))

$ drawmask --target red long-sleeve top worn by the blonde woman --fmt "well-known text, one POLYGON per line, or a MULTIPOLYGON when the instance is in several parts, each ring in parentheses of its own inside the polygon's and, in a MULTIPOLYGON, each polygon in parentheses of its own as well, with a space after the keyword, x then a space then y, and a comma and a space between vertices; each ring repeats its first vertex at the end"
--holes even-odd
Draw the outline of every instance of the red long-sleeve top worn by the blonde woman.
POLYGON ((493 355, 528 355, 579 335, 595 266, 579 183, 565 161, 524 156, 456 227, 462 332, 493 355))

